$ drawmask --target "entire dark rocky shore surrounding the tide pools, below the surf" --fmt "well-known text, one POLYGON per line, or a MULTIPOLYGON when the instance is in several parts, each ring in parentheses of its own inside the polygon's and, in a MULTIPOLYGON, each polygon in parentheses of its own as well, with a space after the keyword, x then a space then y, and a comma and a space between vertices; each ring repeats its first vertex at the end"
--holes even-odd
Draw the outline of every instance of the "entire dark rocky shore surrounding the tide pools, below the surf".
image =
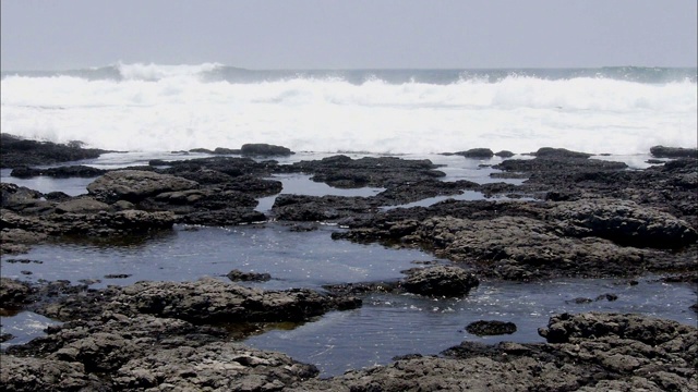
MULTIPOLYGON (((628 170, 625 163, 588 154, 541 148, 532 157, 505 159, 495 167, 498 177, 527 179, 521 185, 443 182, 445 173, 429 160, 335 156, 280 164, 273 158, 292 151, 269 145, 105 171, 35 168, 104 152, 83 150, 80 143, 61 146, 3 134, 1 152, 2 168, 11 168, 13 176, 94 177, 80 196, 41 194, 3 181, 3 257, 75 235, 125 236, 168 231, 174 224, 274 220, 299 226, 333 222, 347 228, 334 233, 336 240, 416 247, 453 261, 406 271, 396 282, 340 284, 324 292, 264 291, 214 279, 95 290, 2 278, 2 308, 29 309, 64 322, 0 354, 4 390, 690 391, 698 385, 696 328, 639 315, 562 314, 541 326, 546 343, 464 342, 438 356, 414 354, 330 379, 318 379, 317 368, 284 354, 232 343, 231 332, 220 327, 239 323, 243 333, 258 333, 268 323, 304 322, 357 308, 371 292, 462 296, 480 279, 530 282, 654 273, 667 282, 696 284, 695 149, 658 146, 651 154, 662 163, 628 170), (279 195, 270 211, 255 210, 257 198, 281 191, 281 183, 269 177, 287 173, 310 174, 335 187, 384 191, 366 197, 279 195), (506 199, 393 208, 464 191, 506 199)), ((494 154, 473 149, 455 155, 486 159, 494 154)), ((233 275, 254 278, 245 272, 233 275)), ((488 333, 503 326, 478 327, 488 333)), ((512 328, 506 327, 504 331, 512 328)))

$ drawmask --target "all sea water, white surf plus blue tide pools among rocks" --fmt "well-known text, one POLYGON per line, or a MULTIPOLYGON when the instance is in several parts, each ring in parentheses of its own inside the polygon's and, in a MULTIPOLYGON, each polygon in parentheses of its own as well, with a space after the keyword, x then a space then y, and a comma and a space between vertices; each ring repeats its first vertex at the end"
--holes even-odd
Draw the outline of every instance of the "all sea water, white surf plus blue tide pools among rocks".
MULTIPOLYGON (((280 164, 392 155, 443 164, 444 181, 498 182, 493 159, 438 152, 474 147, 517 154, 543 146, 592 154, 641 169, 653 145, 696 147, 696 69, 249 71, 219 64, 117 64, 65 72, 3 72, 2 132, 27 138, 118 150, 76 162, 104 169, 151 159, 190 159, 191 148, 269 143, 298 154, 280 164)), ((517 156, 516 158, 526 158, 517 156)), ((47 193, 86 193, 93 179, 14 179, 47 193)), ((338 189, 301 174, 278 175, 282 193, 373 196, 381 188, 338 189)), ((517 182, 520 180, 507 180, 517 182)), ((459 196, 481 198, 476 193, 459 196)), ((266 211, 274 197, 262 198, 266 211)), ((423 200, 432 203, 435 200, 423 200)), ((231 269, 269 272, 265 289, 395 280, 426 261, 416 249, 333 241, 344 229, 310 232, 266 222, 233 228, 177 225, 118 242, 74 240, 2 257, 2 275, 29 282, 67 279, 92 287, 139 280, 227 280, 231 269), (413 261, 418 261, 416 265, 413 261)), ((316 364, 323 376, 385 364, 395 355, 436 354, 464 340, 542 341, 537 329, 561 311, 640 313, 695 324, 695 287, 653 277, 627 280, 482 282, 464 298, 372 294, 354 310, 284 326, 245 340, 316 364), (577 304, 605 293, 616 301, 577 304), (512 335, 478 338, 465 327, 481 319, 514 321, 512 335)), ((32 313, 2 317, 2 332, 21 344, 52 320, 32 313)))

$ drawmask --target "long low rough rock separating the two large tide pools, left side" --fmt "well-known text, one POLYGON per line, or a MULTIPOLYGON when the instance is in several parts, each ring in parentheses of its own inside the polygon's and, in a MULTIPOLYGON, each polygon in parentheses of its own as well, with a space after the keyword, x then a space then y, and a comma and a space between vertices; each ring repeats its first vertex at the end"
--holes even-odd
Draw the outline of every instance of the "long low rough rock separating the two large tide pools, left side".
POLYGON ((361 306, 354 297, 312 290, 265 291, 213 278, 196 282, 137 282, 40 305, 37 313, 70 320, 105 309, 122 315, 174 317, 194 323, 303 321, 329 310, 361 306))

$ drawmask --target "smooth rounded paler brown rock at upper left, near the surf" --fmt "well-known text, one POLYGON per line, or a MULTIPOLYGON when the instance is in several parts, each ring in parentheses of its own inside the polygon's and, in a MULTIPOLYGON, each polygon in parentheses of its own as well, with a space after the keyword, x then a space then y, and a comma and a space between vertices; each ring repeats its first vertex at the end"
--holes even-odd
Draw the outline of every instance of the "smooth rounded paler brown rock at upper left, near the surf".
POLYGON ((128 200, 137 203, 166 192, 195 189, 198 183, 168 174, 149 171, 118 170, 109 172, 89 185, 87 192, 105 203, 128 200))

